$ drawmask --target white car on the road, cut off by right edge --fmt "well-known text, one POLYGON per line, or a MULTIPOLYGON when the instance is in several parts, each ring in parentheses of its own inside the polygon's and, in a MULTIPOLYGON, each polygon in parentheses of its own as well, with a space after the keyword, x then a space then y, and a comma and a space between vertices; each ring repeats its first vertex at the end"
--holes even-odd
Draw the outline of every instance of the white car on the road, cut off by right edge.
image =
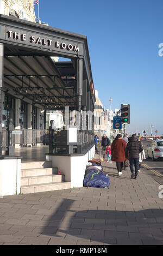
POLYGON ((147 157, 151 157, 153 161, 163 157, 163 140, 155 140, 151 145, 148 145, 147 157))

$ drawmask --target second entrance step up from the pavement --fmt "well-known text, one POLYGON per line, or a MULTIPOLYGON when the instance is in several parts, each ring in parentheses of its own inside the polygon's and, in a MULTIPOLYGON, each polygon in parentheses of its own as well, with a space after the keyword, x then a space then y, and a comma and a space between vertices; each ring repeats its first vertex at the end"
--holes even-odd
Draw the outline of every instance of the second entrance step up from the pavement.
POLYGON ((64 181, 64 175, 40 175, 31 177, 22 177, 21 186, 28 186, 33 184, 44 184, 64 181))

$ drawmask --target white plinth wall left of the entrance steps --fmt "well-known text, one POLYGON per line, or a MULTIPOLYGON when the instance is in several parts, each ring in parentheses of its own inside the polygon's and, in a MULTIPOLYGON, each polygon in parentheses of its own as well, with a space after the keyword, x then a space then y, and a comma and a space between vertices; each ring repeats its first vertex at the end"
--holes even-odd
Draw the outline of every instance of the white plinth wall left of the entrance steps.
POLYGON ((0 197, 20 194, 21 159, 0 160, 0 197))

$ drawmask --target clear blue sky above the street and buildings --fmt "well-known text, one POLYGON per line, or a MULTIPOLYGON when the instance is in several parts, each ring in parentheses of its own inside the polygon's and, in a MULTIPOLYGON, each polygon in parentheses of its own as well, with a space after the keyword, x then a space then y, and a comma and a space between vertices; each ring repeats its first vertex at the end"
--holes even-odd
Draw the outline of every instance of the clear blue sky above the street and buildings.
POLYGON ((163 134, 162 0, 40 0, 40 17, 87 36, 95 89, 107 108, 130 104, 128 131, 163 134))

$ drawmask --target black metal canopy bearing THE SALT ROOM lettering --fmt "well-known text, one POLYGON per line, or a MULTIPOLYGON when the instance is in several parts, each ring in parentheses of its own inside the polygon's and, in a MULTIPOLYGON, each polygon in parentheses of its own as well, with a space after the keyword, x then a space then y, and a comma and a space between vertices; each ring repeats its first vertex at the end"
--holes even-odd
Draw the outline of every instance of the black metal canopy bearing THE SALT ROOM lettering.
MULTIPOLYGON (((22 98, 18 96, 18 92, 17 96, 20 99, 25 97, 24 100, 30 104, 34 102, 33 96, 25 92, 30 91, 27 88, 35 87, 35 96, 37 96, 37 88, 40 88, 43 91, 42 97, 53 97, 58 105, 69 105, 76 109, 77 100, 78 103, 81 102, 79 98, 82 97, 81 88, 79 93, 78 86, 79 80, 81 86, 82 79, 79 79, 77 74, 82 70, 81 77, 87 80, 87 91, 90 91, 92 103, 95 103, 85 35, 5 15, 0 15, 0 28, 0 43, 4 44, 4 89, 9 90, 10 94, 14 94, 15 90, 21 88, 23 84, 25 90, 22 90, 24 91, 22 98), (71 62, 54 63, 50 56, 69 58, 71 62), (80 71, 79 63, 82 67, 80 71), (23 79, 21 76, 24 76, 23 79), (63 89, 66 86, 69 88, 63 89), (77 99, 76 96, 79 94, 80 97, 77 99)), ((36 106, 43 108, 41 102, 36 106)))

